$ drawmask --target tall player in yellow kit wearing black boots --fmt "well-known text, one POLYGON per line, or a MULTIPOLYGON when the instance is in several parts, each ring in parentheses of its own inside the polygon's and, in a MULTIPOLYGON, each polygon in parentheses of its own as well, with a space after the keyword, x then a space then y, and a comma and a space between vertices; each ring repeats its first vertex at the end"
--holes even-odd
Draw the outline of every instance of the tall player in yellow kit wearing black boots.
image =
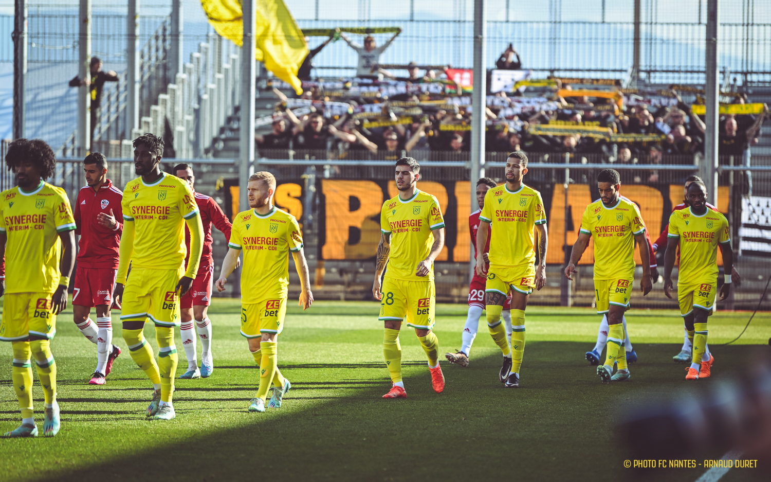
POLYGON ((493 341, 503 352, 500 381, 507 388, 519 388, 520 368, 525 350, 525 309, 533 288, 546 285, 547 228, 544 201, 540 193, 525 186, 527 155, 521 151, 506 160, 506 184, 487 191, 476 231, 476 274, 487 275, 485 311, 493 341), (490 268, 483 253, 490 237, 490 268), (538 230, 538 268, 535 267, 534 228, 538 230), (503 303, 511 291, 511 346, 500 319, 503 303))

